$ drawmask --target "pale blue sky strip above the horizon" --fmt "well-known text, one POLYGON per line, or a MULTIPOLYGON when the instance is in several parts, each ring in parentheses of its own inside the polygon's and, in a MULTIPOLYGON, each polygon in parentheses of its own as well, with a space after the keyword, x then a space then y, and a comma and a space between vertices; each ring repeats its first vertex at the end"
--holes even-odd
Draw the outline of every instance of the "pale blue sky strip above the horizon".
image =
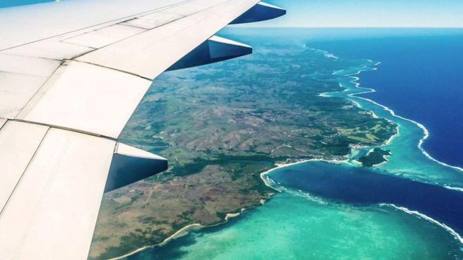
POLYGON ((463 27, 463 0, 264 0, 283 18, 250 27, 463 27))

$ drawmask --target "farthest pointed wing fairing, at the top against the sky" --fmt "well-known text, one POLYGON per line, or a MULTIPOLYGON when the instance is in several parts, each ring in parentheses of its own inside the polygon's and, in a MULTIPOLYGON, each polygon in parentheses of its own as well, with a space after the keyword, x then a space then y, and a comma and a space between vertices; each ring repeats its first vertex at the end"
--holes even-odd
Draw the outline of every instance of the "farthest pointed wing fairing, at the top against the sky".
POLYGON ((279 8, 278 6, 272 6, 264 2, 259 2, 255 6, 251 7, 248 11, 240 15, 238 18, 230 22, 230 25, 236 25, 247 22, 260 22, 264 20, 270 20, 279 18, 282 15, 286 15, 286 10, 279 8))

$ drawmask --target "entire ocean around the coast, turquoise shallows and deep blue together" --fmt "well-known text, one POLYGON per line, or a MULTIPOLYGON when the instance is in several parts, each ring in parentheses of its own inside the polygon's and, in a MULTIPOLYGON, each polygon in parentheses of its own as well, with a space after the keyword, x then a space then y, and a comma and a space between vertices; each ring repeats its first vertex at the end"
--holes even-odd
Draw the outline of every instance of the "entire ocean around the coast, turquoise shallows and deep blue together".
POLYGON ((361 167, 356 159, 374 148, 362 147, 342 163, 276 168, 262 177, 281 193, 261 207, 128 259, 463 259, 463 128, 455 122, 463 81, 451 55, 461 60, 461 30, 225 29, 222 36, 255 52, 289 44, 326 51, 331 62, 362 60, 333 73, 344 90, 322 95, 394 121, 398 135, 381 146, 393 155, 361 167))

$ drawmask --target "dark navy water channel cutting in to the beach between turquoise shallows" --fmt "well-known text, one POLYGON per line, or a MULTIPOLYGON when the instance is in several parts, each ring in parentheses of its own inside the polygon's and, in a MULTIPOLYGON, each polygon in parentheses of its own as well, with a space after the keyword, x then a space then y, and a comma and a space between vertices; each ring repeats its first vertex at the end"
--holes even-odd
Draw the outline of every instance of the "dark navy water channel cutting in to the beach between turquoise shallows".
POLYGON ((443 186, 384 174, 348 163, 313 161, 269 173, 281 186, 337 203, 356 206, 395 205, 417 211, 457 233, 463 231, 463 193, 443 186))

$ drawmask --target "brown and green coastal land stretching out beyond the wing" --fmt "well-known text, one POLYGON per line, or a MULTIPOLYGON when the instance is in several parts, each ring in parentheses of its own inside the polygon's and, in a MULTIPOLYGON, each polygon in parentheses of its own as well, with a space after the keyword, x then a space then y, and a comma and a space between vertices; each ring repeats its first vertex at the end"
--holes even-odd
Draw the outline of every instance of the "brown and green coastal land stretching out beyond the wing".
POLYGON ((345 160, 351 147, 396 135, 395 123, 320 95, 340 90, 334 71, 361 62, 248 40, 253 55, 156 78, 121 139, 168 158, 169 170, 105 194, 89 259, 123 256, 261 205, 276 190, 260 173, 276 163, 345 160))

